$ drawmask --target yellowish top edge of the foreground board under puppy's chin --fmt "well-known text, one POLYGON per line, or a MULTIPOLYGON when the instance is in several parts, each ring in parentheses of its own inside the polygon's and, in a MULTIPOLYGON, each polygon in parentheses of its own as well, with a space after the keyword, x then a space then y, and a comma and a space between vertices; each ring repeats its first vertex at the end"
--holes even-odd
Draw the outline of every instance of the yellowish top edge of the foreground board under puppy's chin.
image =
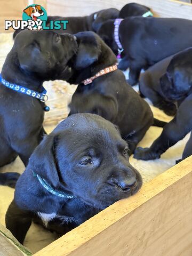
POLYGON ((34 256, 69 255, 139 206, 145 204, 159 193, 162 193, 162 191, 172 186, 175 182, 185 178, 186 175, 191 176, 191 165, 192 156, 143 185, 136 195, 109 206, 81 226, 35 253, 34 256))

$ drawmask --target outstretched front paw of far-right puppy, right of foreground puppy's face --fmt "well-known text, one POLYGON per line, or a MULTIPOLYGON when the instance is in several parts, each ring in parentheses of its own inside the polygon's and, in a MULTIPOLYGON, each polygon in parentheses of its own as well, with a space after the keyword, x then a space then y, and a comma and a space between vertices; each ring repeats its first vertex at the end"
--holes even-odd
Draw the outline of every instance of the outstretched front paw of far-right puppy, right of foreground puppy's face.
POLYGON ((160 156, 151 152, 150 148, 138 147, 134 151, 134 158, 138 160, 140 159, 140 160, 147 161, 147 160, 160 158, 160 156))

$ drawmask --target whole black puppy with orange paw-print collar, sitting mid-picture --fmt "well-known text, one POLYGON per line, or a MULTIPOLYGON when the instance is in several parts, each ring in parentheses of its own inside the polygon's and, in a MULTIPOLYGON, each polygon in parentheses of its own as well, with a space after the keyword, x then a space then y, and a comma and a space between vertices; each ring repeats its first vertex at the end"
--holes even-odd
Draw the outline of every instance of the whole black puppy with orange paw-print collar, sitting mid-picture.
MULTIPOLYGON (((146 101, 139 97, 126 83, 121 70, 115 70, 103 76, 116 64, 115 54, 93 32, 82 32, 77 37, 78 52, 72 61, 74 74, 68 80, 78 84, 70 102, 70 113, 98 114, 116 124, 122 137, 129 142, 131 155, 146 131, 154 124, 153 113, 146 101), (89 84, 83 81, 96 75, 89 84)), ((156 122, 164 125, 164 122, 156 122)))

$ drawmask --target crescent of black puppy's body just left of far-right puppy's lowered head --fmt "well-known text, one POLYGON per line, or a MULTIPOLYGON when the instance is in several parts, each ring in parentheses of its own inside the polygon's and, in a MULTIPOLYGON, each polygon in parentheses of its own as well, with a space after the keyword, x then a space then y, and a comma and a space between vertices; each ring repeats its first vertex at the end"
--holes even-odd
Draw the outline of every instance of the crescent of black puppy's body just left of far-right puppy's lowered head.
POLYGON ((160 78, 166 73, 172 58, 173 55, 157 62, 144 73, 141 73, 139 77, 139 91, 142 97, 150 99, 155 107, 162 109, 165 114, 170 116, 174 116, 177 112, 176 102, 170 101, 163 94, 160 78))

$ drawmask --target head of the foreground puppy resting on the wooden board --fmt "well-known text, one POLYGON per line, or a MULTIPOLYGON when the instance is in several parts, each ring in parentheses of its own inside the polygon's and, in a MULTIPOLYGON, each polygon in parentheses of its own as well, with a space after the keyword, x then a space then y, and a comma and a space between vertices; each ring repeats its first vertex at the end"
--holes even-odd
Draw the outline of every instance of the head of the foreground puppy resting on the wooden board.
POLYGON ((116 127, 94 114, 75 114, 61 122, 35 149, 27 168, 98 209, 133 195, 142 185, 116 127))

